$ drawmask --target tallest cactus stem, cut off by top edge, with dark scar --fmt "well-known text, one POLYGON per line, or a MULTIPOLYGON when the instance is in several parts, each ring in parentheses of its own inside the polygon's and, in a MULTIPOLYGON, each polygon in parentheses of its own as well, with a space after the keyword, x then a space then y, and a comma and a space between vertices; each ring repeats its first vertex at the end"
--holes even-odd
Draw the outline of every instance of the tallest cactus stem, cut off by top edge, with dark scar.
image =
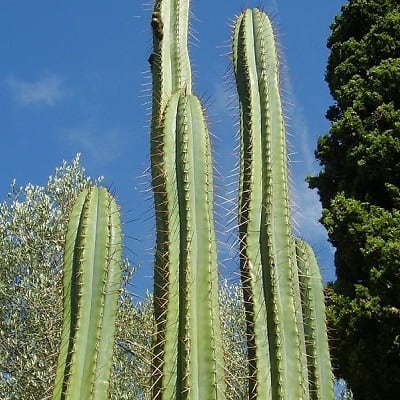
POLYGON ((178 310, 178 263, 180 215, 176 186, 176 135, 163 129, 165 107, 171 95, 183 88, 191 91, 188 53, 189 1, 156 0, 151 26, 153 52, 149 57, 152 73, 152 119, 150 156, 156 218, 154 266, 154 313, 156 331, 153 348, 153 397, 161 388, 165 398, 176 390, 177 332, 167 329, 176 324, 178 310), (165 368, 172 368, 166 370, 165 368), (164 377, 169 376, 167 381, 164 377))

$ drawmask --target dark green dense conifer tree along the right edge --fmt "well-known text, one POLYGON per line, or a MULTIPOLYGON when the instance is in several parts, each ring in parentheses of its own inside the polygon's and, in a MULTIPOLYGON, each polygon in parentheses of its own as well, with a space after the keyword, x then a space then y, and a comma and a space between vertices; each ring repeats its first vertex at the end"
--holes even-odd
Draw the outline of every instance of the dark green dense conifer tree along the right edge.
POLYGON ((318 141, 322 223, 336 247, 328 314, 356 399, 400 389, 400 3, 350 0, 328 39, 335 104, 318 141))

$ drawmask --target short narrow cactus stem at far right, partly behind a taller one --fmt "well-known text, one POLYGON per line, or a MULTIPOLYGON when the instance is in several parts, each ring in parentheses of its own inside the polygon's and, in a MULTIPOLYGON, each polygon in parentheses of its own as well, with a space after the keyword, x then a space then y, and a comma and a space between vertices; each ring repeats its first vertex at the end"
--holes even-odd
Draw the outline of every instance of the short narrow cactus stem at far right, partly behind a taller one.
POLYGON ((296 239, 311 400, 333 400, 333 374, 326 331, 321 273, 311 246, 296 239))

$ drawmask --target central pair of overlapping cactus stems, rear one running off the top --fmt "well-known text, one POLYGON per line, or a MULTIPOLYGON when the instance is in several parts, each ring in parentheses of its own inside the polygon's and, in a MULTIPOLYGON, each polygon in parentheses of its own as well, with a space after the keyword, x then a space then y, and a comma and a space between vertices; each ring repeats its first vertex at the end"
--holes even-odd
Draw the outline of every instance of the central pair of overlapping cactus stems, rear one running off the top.
POLYGON ((223 398, 225 384, 211 149, 191 94, 189 3, 156 1, 151 21, 154 399, 223 398))

